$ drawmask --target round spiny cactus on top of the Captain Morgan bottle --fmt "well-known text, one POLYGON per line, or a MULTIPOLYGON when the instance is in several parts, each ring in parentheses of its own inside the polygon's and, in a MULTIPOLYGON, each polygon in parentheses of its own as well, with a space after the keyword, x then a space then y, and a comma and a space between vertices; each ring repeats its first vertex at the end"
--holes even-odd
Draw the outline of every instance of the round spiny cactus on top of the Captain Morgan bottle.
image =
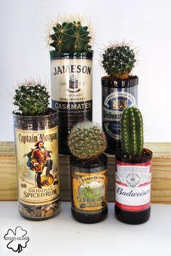
POLYGON ((19 107, 23 115, 35 116, 46 111, 49 97, 45 86, 35 81, 25 81, 15 89, 14 105, 19 107))

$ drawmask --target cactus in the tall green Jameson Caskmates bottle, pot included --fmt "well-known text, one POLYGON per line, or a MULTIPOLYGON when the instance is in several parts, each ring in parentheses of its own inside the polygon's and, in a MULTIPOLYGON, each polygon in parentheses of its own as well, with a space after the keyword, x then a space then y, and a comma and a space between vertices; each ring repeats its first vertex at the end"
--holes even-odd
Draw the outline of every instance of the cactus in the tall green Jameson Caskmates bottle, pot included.
POLYGON ((92 32, 79 15, 59 17, 49 30, 52 107, 59 116, 59 153, 69 154, 74 124, 92 120, 92 32))

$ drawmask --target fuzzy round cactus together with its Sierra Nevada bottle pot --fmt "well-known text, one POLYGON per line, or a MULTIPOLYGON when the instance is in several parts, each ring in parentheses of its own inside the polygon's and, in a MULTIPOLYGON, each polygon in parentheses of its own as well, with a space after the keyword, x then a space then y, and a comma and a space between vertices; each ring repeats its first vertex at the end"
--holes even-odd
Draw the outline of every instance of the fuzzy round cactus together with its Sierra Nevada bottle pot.
POLYGON ((98 124, 76 124, 69 137, 72 216, 97 223, 107 216, 107 146, 98 124))

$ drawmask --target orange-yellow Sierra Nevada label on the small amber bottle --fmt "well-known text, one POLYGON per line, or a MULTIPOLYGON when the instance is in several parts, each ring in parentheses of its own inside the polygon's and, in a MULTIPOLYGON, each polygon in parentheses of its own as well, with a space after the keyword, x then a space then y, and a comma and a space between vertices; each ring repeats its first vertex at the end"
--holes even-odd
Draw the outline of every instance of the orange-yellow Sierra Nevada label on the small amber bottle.
POLYGON ((72 187, 75 209, 93 212, 107 206, 107 169, 91 174, 74 172, 72 187))

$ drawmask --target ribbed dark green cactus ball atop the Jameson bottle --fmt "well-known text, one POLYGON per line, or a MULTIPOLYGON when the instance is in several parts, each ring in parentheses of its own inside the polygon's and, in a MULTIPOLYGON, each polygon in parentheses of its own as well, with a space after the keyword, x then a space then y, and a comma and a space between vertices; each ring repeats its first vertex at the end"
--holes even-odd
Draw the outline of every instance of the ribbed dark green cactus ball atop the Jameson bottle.
POLYGON ((79 16, 64 22, 58 20, 49 31, 49 45, 55 52, 87 52, 91 49, 91 39, 90 26, 82 25, 79 16))

